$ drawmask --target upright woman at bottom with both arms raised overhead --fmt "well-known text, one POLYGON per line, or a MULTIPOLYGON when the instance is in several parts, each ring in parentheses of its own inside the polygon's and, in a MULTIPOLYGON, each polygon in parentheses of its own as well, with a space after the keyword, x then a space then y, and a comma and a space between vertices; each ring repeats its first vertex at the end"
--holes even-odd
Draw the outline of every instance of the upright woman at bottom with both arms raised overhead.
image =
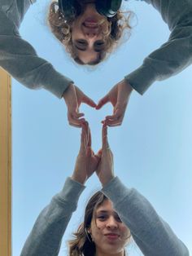
POLYGON ((103 126, 103 148, 94 154, 88 123, 82 125, 75 170, 63 190, 39 214, 21 256, 56 256, 63 234, 76 210, 85 182, 94 174, 102 184, 85 207, 83 223, 69 245, 69 256, 124 256, 131 236, 145 256, 189 256, 189 251, 135 188, 115 177, 113 155, 103 126))

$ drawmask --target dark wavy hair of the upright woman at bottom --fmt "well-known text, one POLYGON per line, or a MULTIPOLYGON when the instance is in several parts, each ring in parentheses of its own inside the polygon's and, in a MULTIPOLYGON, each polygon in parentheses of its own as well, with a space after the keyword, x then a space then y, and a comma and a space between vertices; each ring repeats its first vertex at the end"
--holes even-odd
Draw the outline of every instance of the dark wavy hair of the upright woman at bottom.
MULTIPOLYGON (((95 254, 95 245, 91 236, 87 232, 91 225, 92 218, 94 218, 95 210, 108 198, 100 191, 96 192, 94 196, 89 199, 85 208, 84 222, 78 227, 75 232, 74 239, 68 241, 69 256, 90 256, 95 254)), ((128 239, 131 237, 129 232, 128 239)))

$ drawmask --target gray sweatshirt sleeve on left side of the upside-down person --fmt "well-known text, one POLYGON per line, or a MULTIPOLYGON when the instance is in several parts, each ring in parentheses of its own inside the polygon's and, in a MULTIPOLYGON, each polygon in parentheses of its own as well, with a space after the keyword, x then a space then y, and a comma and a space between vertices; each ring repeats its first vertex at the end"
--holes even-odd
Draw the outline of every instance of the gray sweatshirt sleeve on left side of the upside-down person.
POLYGON ((61 98, 72 80, 41 59, 33 46, 20 37, 20 23, 28 7, 29 0, 1 0, 0 66, 24 86, 44 88, 61 98))

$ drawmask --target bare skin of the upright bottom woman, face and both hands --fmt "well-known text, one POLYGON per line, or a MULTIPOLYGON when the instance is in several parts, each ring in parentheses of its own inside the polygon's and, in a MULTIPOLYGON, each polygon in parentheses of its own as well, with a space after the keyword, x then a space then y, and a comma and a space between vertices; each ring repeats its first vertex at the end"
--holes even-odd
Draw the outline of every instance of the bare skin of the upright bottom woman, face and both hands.
MULTIPOLYGON (((108 144, 106 125, 103 125, 102 141, 103 147, 94 154, 88 122, 82 124, 81 147, 76 157, 73 180, 85 184, 95 171, 103 186, 114 178, 113 156, 108 144)), ((95 256, 124 256, 129 229, 121 222, 111 201, 104 201, 95 210, 88 232, 95 243, 95 256)))

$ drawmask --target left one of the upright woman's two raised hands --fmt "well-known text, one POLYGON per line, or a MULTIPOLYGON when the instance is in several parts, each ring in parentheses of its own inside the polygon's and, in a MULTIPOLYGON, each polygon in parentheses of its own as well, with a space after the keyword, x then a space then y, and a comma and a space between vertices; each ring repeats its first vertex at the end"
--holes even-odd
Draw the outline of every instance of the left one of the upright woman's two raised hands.
POLYGON ((87 179, 98 168, 100 157, 94 155, 91 149, 91 135, 88 122, 82 124, 81 131, 81 147, 78 156, 76 157, 76 166, 72 174, 72 179, 84 184, 87 179))

